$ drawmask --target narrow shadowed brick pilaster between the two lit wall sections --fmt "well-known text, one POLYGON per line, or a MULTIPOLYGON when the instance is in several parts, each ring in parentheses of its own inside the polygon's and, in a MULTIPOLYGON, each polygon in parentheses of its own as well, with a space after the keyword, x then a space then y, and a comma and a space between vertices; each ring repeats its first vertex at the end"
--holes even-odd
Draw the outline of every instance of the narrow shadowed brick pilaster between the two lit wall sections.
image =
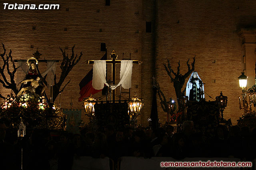
POLYGON ((146 21, 154 23, 155 15, 154 9, 156 8, 154 1, 142 0, 142 75, 141 75, 141 95, 144 99, 144 108, 141 115, 141 122, 143 125, 148 125, 148 118, 151 113, 152 106, 152 86, 154 76, 154 26, 152 31, 146 32, 146 21), (143 71, 144 70, 144 71, 143 71), (148 107, 150 106, 150 107, 148 107))

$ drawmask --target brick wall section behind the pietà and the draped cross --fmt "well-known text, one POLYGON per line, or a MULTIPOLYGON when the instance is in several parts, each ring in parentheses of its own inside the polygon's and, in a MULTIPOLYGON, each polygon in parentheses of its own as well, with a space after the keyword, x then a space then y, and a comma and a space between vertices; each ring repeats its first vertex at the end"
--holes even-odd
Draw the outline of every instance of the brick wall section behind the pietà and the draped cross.
MULTIPOLYGON (((9 4, 60 4, 59 10, 4 10, 0 4, 0 42, 4 43, 7 51, 12 49, 14 59, 28 59, 33 57, 32 53, 39 49, 42 53, 41 59, 62 60, 62 53, 59 49, 66 49, 71 55, 71 48, 76 44, 75 54, 83 56, 80 62, 74 66, 70 74, 66 77, 62 87, 71 79, 62 93, 61 103, 63 108, 70 109, 72 96, 72 109, 83 109, 80 97, 79 83, 92 68, 87 65, 86 60, 100 59, 105 52, 100 51, 100 43, 106 43, 108 55, 112 49, 119 55, 118 59, 129 59, 131 53, 132 60, 141 60, 141 11, 140 0, 134 1, 111 1, 110 6, 105 6, 104 0, 90 1, 8 1, 9 4), (67 9, 68 8, 68 9, 67 9), (32 29, 32 27, 36 29, 32 29), (67 31, 64 31, 66 28, 67 31), (31 48, 31 45, 34 48, 31 48)), ((3 52, 0 47, 0 53, 3 52)), ((110 59, 108 57, 108 59, 110 59)), ((17 64, 16 64, 17 65, 17 64)), ((44 72, 46 63, 39 63, 40 72, 44 72)), ((109 66, 110 68, 110 66, 109 66)), ((116 68, 119 75, 120 67, 116 68)), ((60 76, 60 63, 57 64, 57 80, 60 76)), ((111 70, 108 69, 110 73, 111 70)), ((140 96, 141 67, 133 66, 131 94, 140 96)), ((18 75, 24 76, 24 75, 18 75)), ((119 81, 119 76, 116 82, 119 81)), ((117 94, 120 88, 116 89, 117 94)), ((10 90, 0 87, 0 94, 6 96, 10 90)), ((49 90, 46 90, 50 96, 49 90)), ((122 89, 122 92, 128 90, 122 89)), ((95 95, 102 96, 101 93, 95 95)), ((127 93, 123 93, 124 98, 128 98, 127 93)), ((0 100, 2 102, 3 100, 0 100)), ((58 102, 58 98, 56 99, 58 102)), ((83 115, 82 115, 83 116, 83 115)), ((88 120, 88 119, 87 119, 88 120)))

